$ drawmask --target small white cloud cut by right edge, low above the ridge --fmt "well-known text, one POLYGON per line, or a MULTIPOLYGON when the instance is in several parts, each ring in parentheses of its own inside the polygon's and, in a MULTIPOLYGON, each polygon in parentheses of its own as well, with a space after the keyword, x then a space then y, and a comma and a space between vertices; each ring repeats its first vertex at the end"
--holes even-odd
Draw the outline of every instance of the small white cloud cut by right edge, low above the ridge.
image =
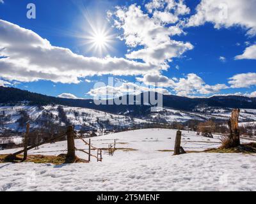
POLYGON ((232 88, 248 88, 256 85, 256 73, 242 73, 229 78, 232 88))

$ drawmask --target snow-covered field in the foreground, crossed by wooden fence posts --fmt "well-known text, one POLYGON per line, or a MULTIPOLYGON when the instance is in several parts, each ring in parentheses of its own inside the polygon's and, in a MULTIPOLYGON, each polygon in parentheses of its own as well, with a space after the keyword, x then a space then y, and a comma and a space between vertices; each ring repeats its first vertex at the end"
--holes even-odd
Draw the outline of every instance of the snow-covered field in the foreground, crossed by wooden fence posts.
MULTIPOLYGON (((175 134, 173 129, 141 129, 92 138, 97 148, 106 148, 116 139, 117 148, 134 149, 116 150, 113 156, 104 152, 102 163, 92 157, 91 163, 80 164, 0 164, 0 191, 256 190, 256 154, 195 152, 173 156, 166 150, 173 150, 175 134)), ((182 131, 182 147, 187 151, 219 147, 219 138, 182 131)), ((87 148, 81 140, 76 140, 76 147, 87 148)), ((29 154, 58 155, 66 150, 67 142, 58 142, 29 154)), ((14 151, 2 150, 0 154, 14 151)), ((83 152, 77 156, 87 159, 83 152)))

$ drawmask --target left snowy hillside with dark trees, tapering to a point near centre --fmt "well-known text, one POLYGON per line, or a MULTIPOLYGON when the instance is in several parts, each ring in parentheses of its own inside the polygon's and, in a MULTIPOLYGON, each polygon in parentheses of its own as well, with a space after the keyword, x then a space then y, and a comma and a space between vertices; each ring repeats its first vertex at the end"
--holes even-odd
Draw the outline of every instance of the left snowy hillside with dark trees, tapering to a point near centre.
POLYGON ((0 106, 0 115, 3 118, 2 129, 13 131, 24 131, 24 126, 20 126, 20 117, 28 117, 31 128, 40 128, 45 122, 65 126, 65 121, 61 117, 67 117, 66 122, 75 126, 75 129, 85 127, 88 129, 113 129, 115 126, 129 127, 132 124, 146 122, 141 119, 131 119, 131 117, 114 115, 100 112, 89 108, 74 108, 61 106, 64 116, 60 113, 60 106, 0 106), (26 113, 24 113, 26 112, 26 113))

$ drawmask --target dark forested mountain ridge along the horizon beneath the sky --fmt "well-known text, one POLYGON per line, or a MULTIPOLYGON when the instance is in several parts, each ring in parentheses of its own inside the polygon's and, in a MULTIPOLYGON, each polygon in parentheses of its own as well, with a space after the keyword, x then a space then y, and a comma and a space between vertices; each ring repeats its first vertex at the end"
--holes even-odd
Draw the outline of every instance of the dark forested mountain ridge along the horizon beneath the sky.
MULTIPOLYGON (((155 93, 156 94, 156 93, 155 93)), ((143 93, 140 94, 143 101, 143 93)), ((133 96, 135 98, 135 96, 133 96)), ((129 96, 127 96, 129 99, 129 96)), ((29 105, 65 105, 79 108, 91 108, 118 114, 147 114, 152 105, 95 105, 93 99, 67 99, 29 92, 13 87, 0 87, 0 103, 16 104, 27 101, 29 105)), ((134 100, 135 101, 135 100, 134 100)), ((184 96, 163 95, 163 106, 177 110, 192 111, 196 107, 215 106, 219 108, 248 108, 256 109, 256 98, 246 96, 212 96, 211 98, 188 98, 184 96)))

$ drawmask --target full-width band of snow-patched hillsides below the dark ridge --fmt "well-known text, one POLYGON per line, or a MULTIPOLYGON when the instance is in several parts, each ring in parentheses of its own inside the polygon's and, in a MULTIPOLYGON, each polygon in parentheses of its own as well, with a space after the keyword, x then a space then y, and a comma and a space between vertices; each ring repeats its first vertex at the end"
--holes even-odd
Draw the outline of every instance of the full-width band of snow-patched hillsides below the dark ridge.
MULTIPOLYGON (((24 132, 22 117, 29 120, 31 128, 44 128, 48 126, 65 126, 72 124, 76 130, 129 128, 136 124, 148 122, 160 122, 172 124, 172 122, 186 122, 188 120, 208 120, 214 117, 218 120, 228 120, 231 108, 196 108, 195 110, 182 111, 171 108, 162 108, 159 112, 150 112, 148 115, 140 115, 140 119, 129 115, 115 115, 89 108, 76 108, 69 106, 47 105, 47 106, 0 106, 0 132, 4 129, 24 132), (61 107, 61 110, 60 110, 61 107)), ((240 122, 256 121, 255 109, 241 109, 240 122)))

